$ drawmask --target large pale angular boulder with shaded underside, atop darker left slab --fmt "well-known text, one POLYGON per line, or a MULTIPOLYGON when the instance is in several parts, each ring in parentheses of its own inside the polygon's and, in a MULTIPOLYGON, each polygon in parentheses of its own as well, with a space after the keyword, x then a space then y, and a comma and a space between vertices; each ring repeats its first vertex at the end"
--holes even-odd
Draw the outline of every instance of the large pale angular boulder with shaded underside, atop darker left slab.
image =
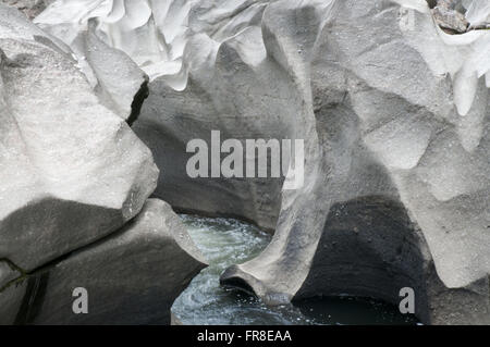
POLYGON ((0 47, 0 259, 33 271, 134 218, 158 170, 68 53, 3 4, 0 47))

